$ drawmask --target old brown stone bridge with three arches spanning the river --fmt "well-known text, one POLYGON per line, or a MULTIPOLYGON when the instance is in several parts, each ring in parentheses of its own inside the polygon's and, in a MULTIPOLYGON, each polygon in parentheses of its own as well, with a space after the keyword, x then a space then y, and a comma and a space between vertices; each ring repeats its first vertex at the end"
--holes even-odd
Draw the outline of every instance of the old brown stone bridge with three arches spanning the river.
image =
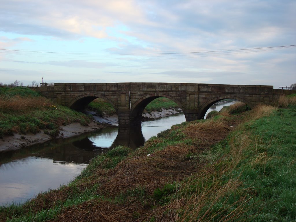
POLYGON ((38 90, 75 110, 83 110, 92 100, 102 98, 115 108, 119 126, 140 125, 144 108, 161 96, 176 102, 186 121, 191 121, 204 118, 209 107, 222 99, 237 99, 252 108, 270 104, 281 94, 296 92, 273 86, 200 83, 55 83, 38 90))

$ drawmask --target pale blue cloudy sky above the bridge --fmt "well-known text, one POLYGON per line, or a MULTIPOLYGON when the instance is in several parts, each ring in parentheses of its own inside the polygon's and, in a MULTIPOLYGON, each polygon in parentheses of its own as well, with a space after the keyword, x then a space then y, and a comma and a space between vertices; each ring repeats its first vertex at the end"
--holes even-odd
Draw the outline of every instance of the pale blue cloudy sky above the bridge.
POLYGON ((290 86, 295 12, 295 0, 0 0, 0 82, 290 86))

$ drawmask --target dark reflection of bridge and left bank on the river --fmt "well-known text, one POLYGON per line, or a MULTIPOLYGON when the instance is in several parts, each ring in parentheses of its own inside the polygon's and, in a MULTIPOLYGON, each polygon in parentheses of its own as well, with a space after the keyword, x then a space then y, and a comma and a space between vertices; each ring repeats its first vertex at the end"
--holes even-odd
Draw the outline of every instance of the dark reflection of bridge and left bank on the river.
POLYGON ((0 166, 19 159, 40 157, 58 163, 88 164, 96 155, 124 145, 136 149, 145 142, 141 126, 134 129, 107 127, 71 138, 53 139, 14 151, 0 152, 0 166))

